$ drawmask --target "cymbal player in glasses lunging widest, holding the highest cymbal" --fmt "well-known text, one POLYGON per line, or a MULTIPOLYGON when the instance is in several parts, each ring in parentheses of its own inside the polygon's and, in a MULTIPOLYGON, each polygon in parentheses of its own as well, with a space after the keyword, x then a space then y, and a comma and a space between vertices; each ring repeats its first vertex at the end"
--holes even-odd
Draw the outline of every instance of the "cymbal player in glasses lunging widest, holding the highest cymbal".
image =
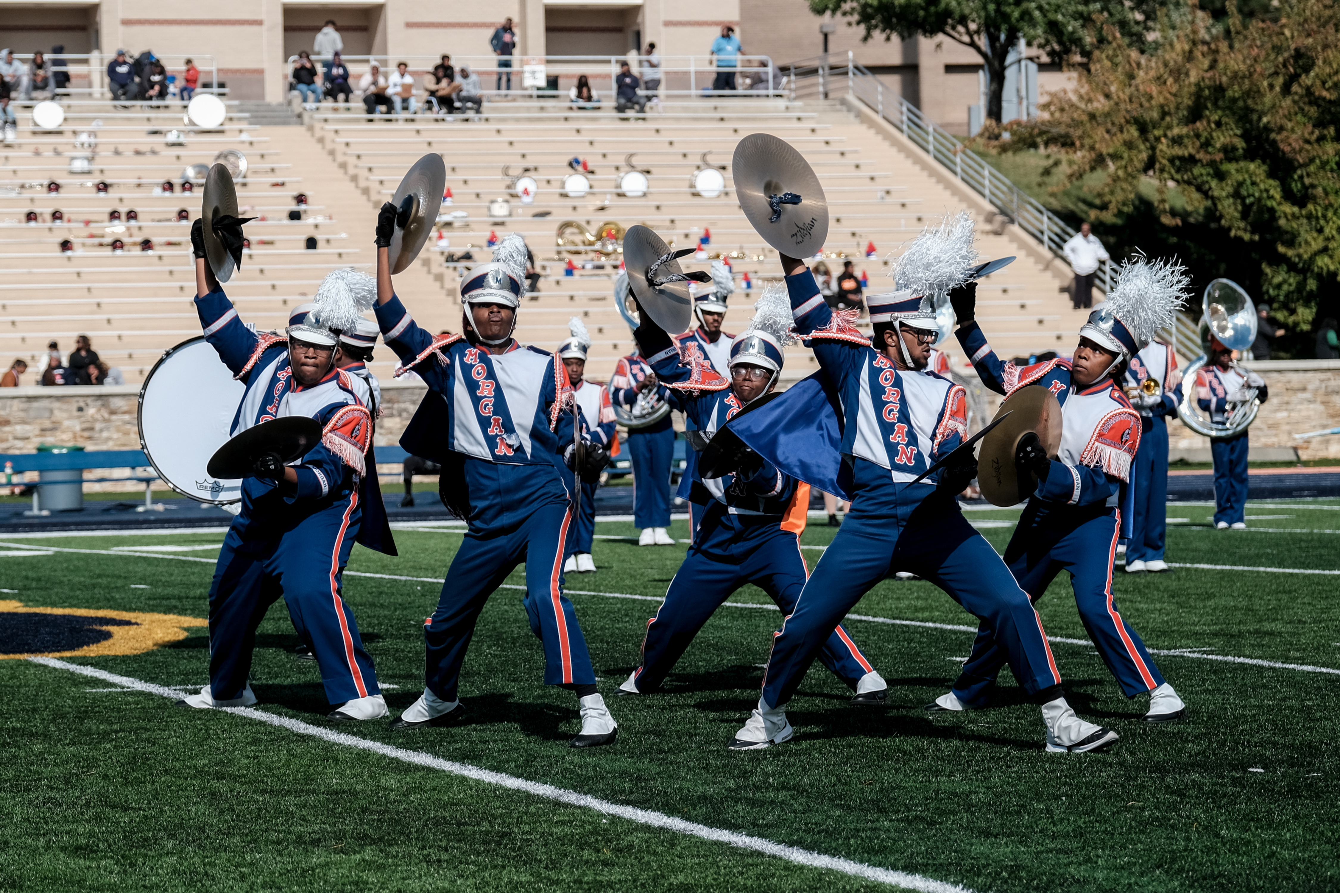
MULTIPOLYGON (((972 222, 962 221, 958 229, 963 228, 970 249, 972 222)), ((953 249, 947 245, 942 254, 953 249)), ((923 371, 935 339, 931 300, 918 299, 914 292, 919 289, 867 299, 875 325, 871 344, 851 325, 850 312, 829 309, 804 261, 783 256, 781 264, 796 329, 811 339, 823 367, 817 380, 835 392, 824 392, 829 406, 842 407, 843 463, 835 477, 846 481, 852 505, 773 639, 758 706, 730 748, 753 750, 792 738, 785 706, 809 664, 866 592, 898 570, 934 582, 1000 631, 1014 675, 1041 704, 1048 750, 1088 751, 1115 740, 1116 732, 1085 723, 1065 703, 1037 612, 996 550, 963 518, 955 495, 976 474, 972 455, 913 483, 963 440, 967 427, 963 388, 923 371)), ((898 273, 900 285, 909 280, 918 281, 898 273)), ((799 386, 792 391, 803 394, 799 386)), ((788 396, 744 416, 760 416, 753 427, 776 430, 783 449, 797 439, 801 426, 813 424, 815 415, 769 412, 780 410, 788 396)), ((812 451, 808 443, 799 446, 812 451)))

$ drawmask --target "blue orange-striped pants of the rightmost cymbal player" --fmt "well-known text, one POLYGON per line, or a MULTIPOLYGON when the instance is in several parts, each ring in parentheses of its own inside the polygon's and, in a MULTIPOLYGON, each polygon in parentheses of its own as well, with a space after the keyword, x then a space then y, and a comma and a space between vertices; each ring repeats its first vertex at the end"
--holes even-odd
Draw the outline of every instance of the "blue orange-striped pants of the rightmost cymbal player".
MULTIPOLYGON (((1005 564, 1033 601, 1047 592, 1056 574, 1061 570, 1071 573, 1075 604, 1089 640, 1126 696, 1134 698, 1162 685, 1163 676, 1139 633, 1122 617, 1112 596, 1119 526, 1114 509, 1097 506, 1084 511, 1061 507, 1048 511, 1032 502, 1005 548, 1005 564)), ((954 683, 954 696, 965 704, 984 707, 1004 664, 1005 652, 990 627, 982 624, 973 653, 954 683)))

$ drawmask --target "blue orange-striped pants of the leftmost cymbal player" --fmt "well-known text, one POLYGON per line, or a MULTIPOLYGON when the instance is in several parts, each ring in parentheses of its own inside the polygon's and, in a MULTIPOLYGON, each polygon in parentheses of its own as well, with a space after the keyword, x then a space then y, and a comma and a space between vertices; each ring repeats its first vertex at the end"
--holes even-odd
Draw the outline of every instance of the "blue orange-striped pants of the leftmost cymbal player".
MULTIPOLYGON (((267 507, 273 507, 269 501, 267 507)), ((271 527, 245 515, 233 521, 209 588, 209 684, 216 700, 241 696, 256 628, 280 596, 297 636, 316 656, 331 704, 382 692, 340 594, 359 521, 356 493, 293 525, 271 527)))

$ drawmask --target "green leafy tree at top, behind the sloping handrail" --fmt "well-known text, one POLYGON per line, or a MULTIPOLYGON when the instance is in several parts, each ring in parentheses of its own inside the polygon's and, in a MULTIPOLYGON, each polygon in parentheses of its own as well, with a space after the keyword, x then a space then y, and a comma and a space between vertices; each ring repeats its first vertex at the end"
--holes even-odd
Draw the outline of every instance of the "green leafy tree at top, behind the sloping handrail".
POLYGON ((997 122, 1006 63, 1020 37, 1051 62, 1073 62, 1092 51, 1095 19, 1127 43, 1139 43, 1158 5, 1156 0, 809 0, 815 13, 832 12, 864 28, 863 40, 876 33, 884 40, 925 35, 970 48, 986 67, 986 116, 997 122))

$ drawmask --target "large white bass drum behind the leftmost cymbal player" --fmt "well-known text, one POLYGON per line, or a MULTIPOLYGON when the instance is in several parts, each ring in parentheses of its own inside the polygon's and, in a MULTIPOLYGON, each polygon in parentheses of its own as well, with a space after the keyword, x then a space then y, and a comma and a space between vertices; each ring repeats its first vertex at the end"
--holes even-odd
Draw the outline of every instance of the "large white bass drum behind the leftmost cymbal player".
POLYGON ((204 337, 182 341, 150 370, 139 390, 139 446, 168 486, 212 505, 243 498, 241 479, 220 481, 205 467, 228 442, 245 391, 204 337))

